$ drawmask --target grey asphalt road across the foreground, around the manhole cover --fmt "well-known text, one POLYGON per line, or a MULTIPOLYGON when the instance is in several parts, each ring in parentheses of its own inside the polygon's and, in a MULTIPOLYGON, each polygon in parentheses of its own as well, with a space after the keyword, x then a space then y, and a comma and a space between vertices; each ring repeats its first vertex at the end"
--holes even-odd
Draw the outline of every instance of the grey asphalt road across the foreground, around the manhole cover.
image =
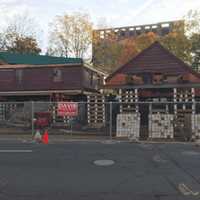
POLYGON ((0 141, 0 200, 8 199, 200 199, 200 147, 0 141), (93 163, 102 159, 115 163, 93 163))

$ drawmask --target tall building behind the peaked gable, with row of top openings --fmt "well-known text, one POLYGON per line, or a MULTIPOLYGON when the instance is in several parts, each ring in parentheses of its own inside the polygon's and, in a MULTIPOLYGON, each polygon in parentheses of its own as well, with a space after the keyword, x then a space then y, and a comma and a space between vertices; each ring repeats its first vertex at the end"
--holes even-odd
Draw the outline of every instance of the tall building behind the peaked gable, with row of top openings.
POLYGON ((98 29, 93 31, 92 60, 95 66, 109 73, 145 49, 155 36, 162 38, 178 28, 184 31, 184 21, 98 29), (146 38, 137 38, 147 35, 146 38), (150 34, 150 35, 148 35, 150 34), (138 44, 136 44, 138 43, 138 44))

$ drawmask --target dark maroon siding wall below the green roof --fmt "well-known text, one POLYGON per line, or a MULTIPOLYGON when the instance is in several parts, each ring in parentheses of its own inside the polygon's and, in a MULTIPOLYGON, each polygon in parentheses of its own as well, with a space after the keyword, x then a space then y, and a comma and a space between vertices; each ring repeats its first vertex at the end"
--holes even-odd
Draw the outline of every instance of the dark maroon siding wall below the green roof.
POLYGON ((89 85, 90 75, 85 73, 87 69, 80 66, 67 67, 32 67, 32 68, 0 68, 0 92, 8 91, 45 91, 45 90, 73 90, 94 89, 89 85), (62 80, 54 81, 54 69, 62 71, 62 80), (22 70, 21 81, 17 79, 16 71, 22 70))

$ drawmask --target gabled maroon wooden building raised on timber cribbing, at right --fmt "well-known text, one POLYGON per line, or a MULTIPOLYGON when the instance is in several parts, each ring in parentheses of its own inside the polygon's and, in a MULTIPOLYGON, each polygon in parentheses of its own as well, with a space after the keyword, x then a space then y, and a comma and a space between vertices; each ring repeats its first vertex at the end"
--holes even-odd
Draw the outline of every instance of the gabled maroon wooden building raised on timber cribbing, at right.
MULTIPOLYGON (((174 137, 191 132, 193 137, 200 137, 196 120, 200 114, 200 74, 159 42, 108 76, 104 88, 118 93, 120 113, 139 113, 142 137, 148 137, 150 118, 155 117, 157 125, 162 126, 154 113, 174 119, 170 121, 174 137)), ((163 125, 163 132, 165 128, 163 125)))

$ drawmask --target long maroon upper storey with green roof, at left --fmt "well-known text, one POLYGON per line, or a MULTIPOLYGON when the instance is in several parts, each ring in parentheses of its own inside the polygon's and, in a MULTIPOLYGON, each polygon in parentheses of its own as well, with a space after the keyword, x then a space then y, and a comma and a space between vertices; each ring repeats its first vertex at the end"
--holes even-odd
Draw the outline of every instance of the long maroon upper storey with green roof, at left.
POLYGON ((0 63, 2 101, 85 101, 103 83, 103 73, 78 58, 1 52, 0 63))

